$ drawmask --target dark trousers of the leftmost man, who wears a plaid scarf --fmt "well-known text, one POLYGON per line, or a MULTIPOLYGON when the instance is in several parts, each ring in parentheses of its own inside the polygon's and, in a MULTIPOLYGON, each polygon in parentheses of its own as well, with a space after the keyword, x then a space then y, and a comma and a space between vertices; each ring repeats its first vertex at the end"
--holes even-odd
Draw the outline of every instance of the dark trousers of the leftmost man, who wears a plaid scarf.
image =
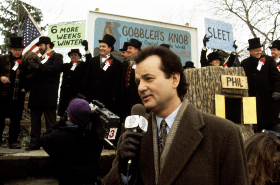
POLYGON ((17 138, 20 133, 20 120, 22 117, 22 111, 23 111, 23 103, 19 101, 10 101, 9 104, 6 104, 3 107, 1 107, 0 109, 1 141, 2 141, 3 131, 5 128, 5 119, 10 118, 8 142, 9 144, 12 144, 13 142, 17 142, 17 138))

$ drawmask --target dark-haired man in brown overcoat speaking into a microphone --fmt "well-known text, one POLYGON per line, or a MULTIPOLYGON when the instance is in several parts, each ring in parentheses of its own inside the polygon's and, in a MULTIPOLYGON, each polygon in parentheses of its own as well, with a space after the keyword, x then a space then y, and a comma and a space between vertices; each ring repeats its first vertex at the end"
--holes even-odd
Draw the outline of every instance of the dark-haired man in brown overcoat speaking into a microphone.
POLYGON ((249 184, 239 129, 183 98, 188 84, 176 54, 153 46, 135 61, 138 93, 151 111, 148 130, 121 135, 103 184, 249 184))

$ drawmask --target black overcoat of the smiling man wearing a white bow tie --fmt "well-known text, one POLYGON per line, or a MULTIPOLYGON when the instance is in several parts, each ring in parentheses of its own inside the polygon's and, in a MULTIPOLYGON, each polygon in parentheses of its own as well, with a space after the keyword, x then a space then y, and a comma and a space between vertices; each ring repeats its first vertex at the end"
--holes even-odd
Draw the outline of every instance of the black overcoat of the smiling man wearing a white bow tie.
POLYGON ((100 54, 90 59, 81 87, 81 94, 88 102, 98 100, 113 113, 120 115, 121 62, 112 54, 108 58, 112 64, 104 71, 100 67, 100 54))

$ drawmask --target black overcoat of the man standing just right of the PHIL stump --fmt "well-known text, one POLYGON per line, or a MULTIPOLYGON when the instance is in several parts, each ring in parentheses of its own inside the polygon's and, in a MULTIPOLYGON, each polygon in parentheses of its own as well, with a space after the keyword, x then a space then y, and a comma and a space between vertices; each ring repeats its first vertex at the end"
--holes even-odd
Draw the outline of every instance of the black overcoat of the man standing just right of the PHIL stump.
POLYGON ((253 68, 249 57, 241 61, 241 67, 248 79, 249 96, 256 97, 258 124, 265 126, 280 122, 279 101, 272 98, 273 92, 280 93, 280 75, 272 57, 262 55, 261 58, 265 58, 265 64, 260 71, 257 66, 253 68))

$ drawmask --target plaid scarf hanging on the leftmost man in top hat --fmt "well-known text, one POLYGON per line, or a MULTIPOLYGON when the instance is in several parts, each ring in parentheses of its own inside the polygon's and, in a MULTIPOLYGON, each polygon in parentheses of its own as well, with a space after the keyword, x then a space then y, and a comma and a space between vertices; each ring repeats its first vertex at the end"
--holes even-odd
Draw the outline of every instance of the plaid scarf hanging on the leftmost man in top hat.
MULTIPOLYGON (((14 60, 14 63, 15 63, 15 60, 14 60)), ((11 68, 12 68, 12 65, 10 63, 10 57, 7 57, 6 67, 5 67, 5 76, 8 78, 10 78, 11 68)), ((13 88, 12 100, 17 100, 18 85, 20 83, 20 78, 19 78, 20 74, 21 74, 21 65, 19 65, 17 67, 17 69, 15 70, 15 84, 14 84, 14 88, 13 88)), ((2 99, 6 98, 8 96, 9 87, 10 87, 10 83, 6 83, 3 85, 2 99)))

